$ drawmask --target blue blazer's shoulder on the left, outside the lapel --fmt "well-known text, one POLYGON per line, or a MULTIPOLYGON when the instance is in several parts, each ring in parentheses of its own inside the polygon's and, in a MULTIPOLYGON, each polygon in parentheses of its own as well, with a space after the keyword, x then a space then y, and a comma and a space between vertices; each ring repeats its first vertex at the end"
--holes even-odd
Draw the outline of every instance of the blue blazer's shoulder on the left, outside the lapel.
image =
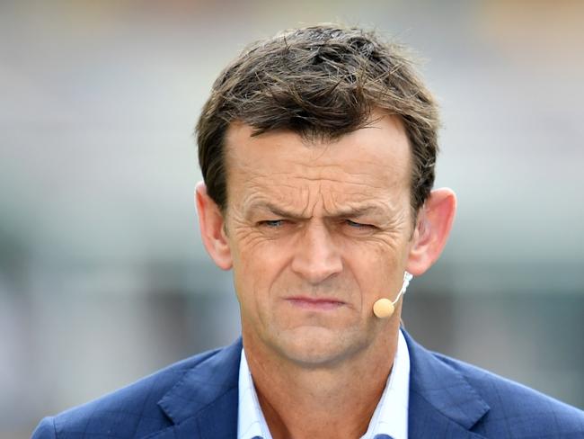
POLYGON ((46 417, 32 438, 84 437, 96 430, 116 437, 141 437, 161 430, 171 425, 171 421, 158 407, 158 401, 187 372, 220 351, 215 349, 194 355, 102 398, 70 408, 55 417, 46 417))

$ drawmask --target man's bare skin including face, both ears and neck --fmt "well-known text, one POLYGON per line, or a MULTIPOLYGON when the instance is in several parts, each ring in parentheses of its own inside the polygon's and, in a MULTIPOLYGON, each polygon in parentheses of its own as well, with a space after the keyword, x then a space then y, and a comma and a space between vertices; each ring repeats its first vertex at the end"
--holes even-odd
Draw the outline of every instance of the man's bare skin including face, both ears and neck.
POLYGON ((373 303, 394 299, 446 244, 456 211, 434 191, 411 218, 411 153, 402 122, 381 112, 333 142, 293 132, 226 134, 226 217, 197 186, 209 255, 233 269, 243 346, 278 438, 355 438, 391 371, 400 324, 373 303))

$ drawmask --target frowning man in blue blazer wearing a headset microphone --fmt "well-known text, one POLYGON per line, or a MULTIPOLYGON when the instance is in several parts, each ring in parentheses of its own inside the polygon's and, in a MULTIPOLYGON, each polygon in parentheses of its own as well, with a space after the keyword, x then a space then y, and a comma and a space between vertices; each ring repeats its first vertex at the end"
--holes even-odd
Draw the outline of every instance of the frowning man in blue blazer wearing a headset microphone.
POLYGON ((321 25, 262 40, 197 126, 201 235, 242 340, 45 418, 34 437, 584 437, 584 413, 426 351, 402 296, 446 244, 436 103, 403 49, 321 25))

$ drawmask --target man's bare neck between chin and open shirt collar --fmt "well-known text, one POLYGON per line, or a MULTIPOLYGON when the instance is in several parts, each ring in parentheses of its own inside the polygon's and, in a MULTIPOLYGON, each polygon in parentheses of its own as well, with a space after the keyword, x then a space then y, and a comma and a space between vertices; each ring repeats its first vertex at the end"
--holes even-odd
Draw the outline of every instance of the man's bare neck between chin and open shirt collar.
POLYGON ((364 435, 394 363, 399 320, 396 323, 387 328, 389 336, 363 352, 317 368, 275 355, 243 332, 253 384, 272 437, 364 435))

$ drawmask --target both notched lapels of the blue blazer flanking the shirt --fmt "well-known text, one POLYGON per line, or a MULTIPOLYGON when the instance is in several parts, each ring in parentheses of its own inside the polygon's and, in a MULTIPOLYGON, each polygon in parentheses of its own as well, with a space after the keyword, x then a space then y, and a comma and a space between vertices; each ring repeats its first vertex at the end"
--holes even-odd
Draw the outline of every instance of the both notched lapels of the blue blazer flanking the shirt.
MULTIPOLYGON (((460 372, 418 345, 405 330, 403 336, 410 354, 408 436, 482 437, 469 429, 489 411, 487 403, 460 372)), ((149 437, 237 437, 241 353, 240 337, 187 372, 158 402, 174 426, 149 437)))

